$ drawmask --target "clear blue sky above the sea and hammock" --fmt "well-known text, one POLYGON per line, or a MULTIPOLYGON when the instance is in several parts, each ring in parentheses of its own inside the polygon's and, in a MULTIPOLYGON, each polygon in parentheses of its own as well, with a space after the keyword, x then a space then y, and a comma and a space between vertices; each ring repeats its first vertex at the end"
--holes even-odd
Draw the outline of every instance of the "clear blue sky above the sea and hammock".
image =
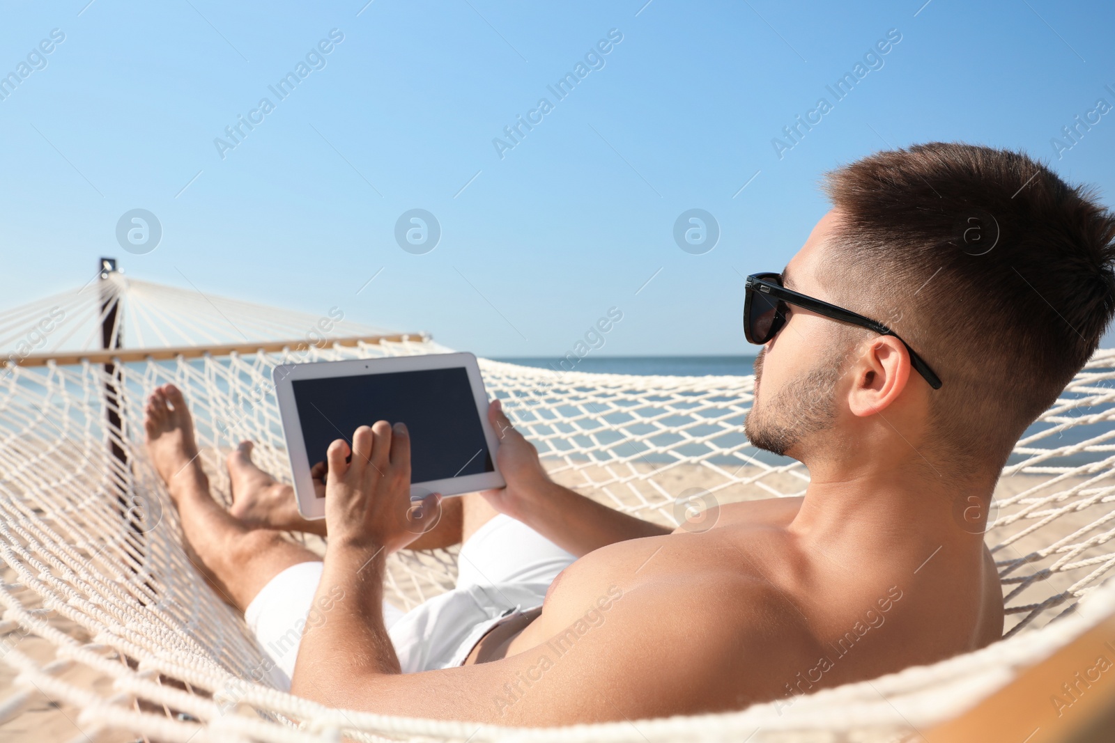
POLYGON ((110 255, 484 355, 561 354, 611 307, 601 355, 750 353, 741 275, 786 263, 841 163, 934 139, 1022 147, 1115 202, 1115 114, 1059 157, 1050 144, 1115 104, 1111 3, 365 2, 4 3, 0 74, 65 40, 0 100, 0 307, 110 255), (772 139, 892 29, 779 158, 772 139), (610 31, 559 100, 547 86, 610 31), (552 110, 497 151, 540 98, 552 110), (237 116, 262 121, 222 153, 237 116), (116 239, 134 208, 163 229, 144 255, 116 239), (423 254, 395 236, 415 208, 440 226, 423 254), (702 254, 673 237, 694 208, 720 233, 702 254))

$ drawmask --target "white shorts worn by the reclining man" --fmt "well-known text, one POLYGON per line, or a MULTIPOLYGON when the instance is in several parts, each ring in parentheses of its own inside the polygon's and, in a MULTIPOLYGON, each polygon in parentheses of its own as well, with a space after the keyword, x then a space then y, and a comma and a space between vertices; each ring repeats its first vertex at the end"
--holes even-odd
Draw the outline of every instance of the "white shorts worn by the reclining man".
MULTIPOLYGON (((525 524, 503 514, 476 530, 460 548, 457 586, 404 613, 384 602, 403 673, 460 665, 492 627, 541 606, 550 584, 576 558, 525 524)), ((244 619, 274 664, 269 676, 290 688, 306 626, 328 620, 341 597, 313 595, 319 560, 299 563, 272 578, 249 604, 244 619)))

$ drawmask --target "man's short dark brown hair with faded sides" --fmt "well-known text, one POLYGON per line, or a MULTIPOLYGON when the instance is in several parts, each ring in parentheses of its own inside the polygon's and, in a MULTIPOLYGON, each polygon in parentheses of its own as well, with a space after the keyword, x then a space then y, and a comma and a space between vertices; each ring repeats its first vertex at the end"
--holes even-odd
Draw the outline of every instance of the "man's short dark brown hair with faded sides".
POLYGON ((824 189, 841 223, 820 281, 941 378, 942 454, 1004 463, 1115 313, 1115 215, 1025 153, 963 144, 876 153, 824 189))

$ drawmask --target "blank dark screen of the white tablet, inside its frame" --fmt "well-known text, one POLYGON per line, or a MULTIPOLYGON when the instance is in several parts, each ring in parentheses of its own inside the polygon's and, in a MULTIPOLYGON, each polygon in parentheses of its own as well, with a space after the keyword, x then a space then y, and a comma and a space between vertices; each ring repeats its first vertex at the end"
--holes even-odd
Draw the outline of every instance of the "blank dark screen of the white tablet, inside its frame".
POLYGON ((378 420, 410 431, 410 481, 492 472, 492 456, 464 366, 292 380, 312 468, 336 439, 378 420))

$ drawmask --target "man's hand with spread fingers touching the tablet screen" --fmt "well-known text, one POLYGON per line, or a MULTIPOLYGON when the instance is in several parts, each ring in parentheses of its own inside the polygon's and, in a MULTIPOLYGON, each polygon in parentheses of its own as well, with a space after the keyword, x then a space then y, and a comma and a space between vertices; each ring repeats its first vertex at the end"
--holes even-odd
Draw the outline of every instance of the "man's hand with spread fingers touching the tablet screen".
POLYGON ((410 501, 410 436, 404 423, 378 421, 338 439, 327 452, 326 525, 330 542, 403 549, 436 524, 440 495, 410 501), (423 522, 426 519, 427 524, 423 522))

